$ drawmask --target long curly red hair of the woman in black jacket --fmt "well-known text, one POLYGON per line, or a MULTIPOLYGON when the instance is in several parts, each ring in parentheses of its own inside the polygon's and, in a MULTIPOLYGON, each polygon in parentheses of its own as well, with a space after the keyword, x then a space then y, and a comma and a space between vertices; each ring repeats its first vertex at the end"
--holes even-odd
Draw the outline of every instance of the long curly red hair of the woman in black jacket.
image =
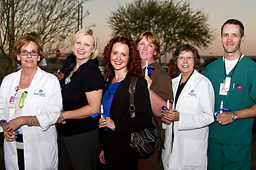
POLYGON ((115 43, 125 44, 129 48, 129 62, 127 64, 128 75, 129 77, 135 77, 141 75, 141 59, 140 52, 137 50, 137 47, 131 38, 125 36, 116 36, 109 40, 107 46, 105 46, 103 51, 103 66, 104 74, 109 78, 115 76, 115 71, 113 65, 110 61, 111 51, 115 43))

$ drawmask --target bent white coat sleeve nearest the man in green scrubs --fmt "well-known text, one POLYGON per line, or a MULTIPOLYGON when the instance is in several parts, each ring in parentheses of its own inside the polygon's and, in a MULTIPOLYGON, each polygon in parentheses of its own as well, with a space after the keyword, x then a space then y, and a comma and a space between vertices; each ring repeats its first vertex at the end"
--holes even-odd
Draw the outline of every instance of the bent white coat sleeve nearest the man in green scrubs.
MULTIPOLYGON (((197 113, 180 113, 178 130, 192 130, 209 126, 213 121, 214 113, 214 90, 212 83, 207 79, 200 82, 198 87, 197 113)), ((184 106, 185 107, 185 106, 184 106)), ((190 110, 188 108, 188 110, 190 110)))

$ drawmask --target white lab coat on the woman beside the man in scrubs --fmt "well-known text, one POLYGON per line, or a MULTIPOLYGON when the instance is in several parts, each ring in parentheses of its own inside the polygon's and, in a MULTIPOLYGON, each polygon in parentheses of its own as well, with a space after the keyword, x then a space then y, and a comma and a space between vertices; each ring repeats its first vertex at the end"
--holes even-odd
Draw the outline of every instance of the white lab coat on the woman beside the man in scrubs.
MULTIPOLYGON (((174 99, 180 76, 172 80, 174 99)), ((174 109, 175 101, 173 102, 174 109)), ((180 120, 174 123, 172 150, 172 124, 166 128, 162 162, 165 170, 207 169, 208 126, 214 121, 214 90, 212 83, 194 70, 177 101, 180 120)))

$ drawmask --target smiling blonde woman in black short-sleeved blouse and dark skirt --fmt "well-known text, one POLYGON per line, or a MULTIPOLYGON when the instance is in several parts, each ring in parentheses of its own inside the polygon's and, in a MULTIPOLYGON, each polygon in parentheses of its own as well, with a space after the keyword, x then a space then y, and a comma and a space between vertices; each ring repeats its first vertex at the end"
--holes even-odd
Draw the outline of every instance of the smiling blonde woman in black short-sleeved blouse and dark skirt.
POLYGON ((71 40, 76 64, 60 81, 63 111, 58 120, 59 169, 96 169, 101 151, 99 113, 104 80, 92 59, 99 53, 94 31, 82 28, 71 40), (60 123, 62 122, 62 123, 60 123))

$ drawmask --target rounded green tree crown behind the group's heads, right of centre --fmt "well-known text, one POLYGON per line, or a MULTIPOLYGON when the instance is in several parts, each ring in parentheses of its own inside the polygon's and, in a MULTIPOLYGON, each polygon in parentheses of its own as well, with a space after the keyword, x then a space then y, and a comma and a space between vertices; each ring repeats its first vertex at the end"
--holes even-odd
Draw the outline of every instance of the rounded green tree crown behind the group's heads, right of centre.
POLYGON ((192 10, 188 2, 135 0, 119 4, 112 12, 108 24, 112 35, 129 36, 136 39, 142 32, 156 32, 161 51, 172 51, 178 45, 189 43, 200 49, 208 48, 214 40, 208 15, 202 10, 192 10))

